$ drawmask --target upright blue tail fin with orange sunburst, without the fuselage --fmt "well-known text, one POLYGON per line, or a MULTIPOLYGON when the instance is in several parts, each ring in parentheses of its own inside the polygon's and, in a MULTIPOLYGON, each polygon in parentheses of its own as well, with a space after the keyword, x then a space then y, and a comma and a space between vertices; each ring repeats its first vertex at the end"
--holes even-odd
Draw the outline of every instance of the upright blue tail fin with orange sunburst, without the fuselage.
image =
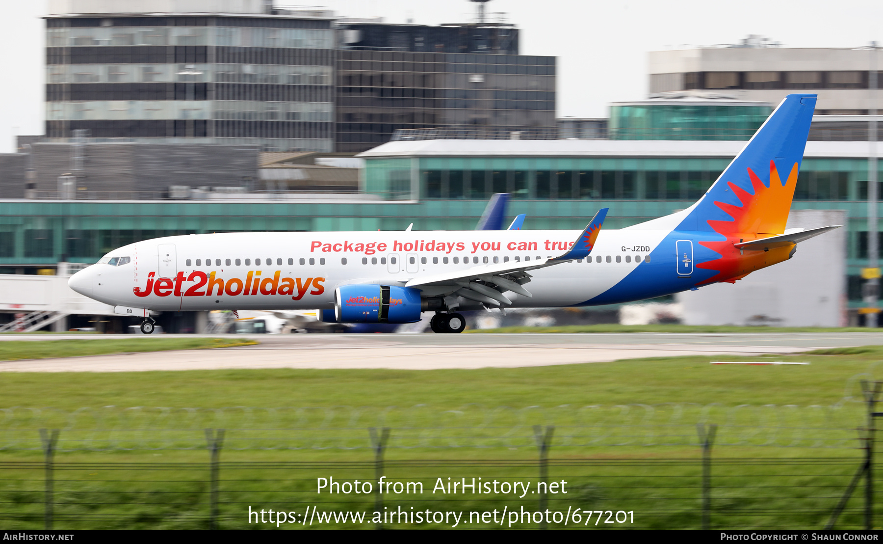
POLYGON ((672 217, 677 230, 724 236, 781 234, 804 157, 816 94, 789 94, 696 204, 672 217))

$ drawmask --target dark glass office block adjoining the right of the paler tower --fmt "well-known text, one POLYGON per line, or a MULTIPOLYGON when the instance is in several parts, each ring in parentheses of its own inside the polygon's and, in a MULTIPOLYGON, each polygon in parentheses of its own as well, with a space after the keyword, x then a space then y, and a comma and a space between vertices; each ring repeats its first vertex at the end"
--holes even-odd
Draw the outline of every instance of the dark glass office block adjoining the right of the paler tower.
POLYGON ((412 129, 555 132, 555 57, 518 55, 515 26, 337 26, 337 151, 366 151, 401 130, 407 139, 412 129))

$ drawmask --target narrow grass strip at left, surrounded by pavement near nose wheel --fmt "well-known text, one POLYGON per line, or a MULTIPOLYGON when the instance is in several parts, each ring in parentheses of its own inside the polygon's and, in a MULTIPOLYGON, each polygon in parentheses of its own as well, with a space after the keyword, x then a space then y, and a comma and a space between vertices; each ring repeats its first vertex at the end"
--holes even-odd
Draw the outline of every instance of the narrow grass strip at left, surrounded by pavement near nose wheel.
POLYGON ((131 340, 9 340, 0 342, 0 361, 83 357, 140 351, 204 350, 257 344, 242 338, 132 338, 131 340))

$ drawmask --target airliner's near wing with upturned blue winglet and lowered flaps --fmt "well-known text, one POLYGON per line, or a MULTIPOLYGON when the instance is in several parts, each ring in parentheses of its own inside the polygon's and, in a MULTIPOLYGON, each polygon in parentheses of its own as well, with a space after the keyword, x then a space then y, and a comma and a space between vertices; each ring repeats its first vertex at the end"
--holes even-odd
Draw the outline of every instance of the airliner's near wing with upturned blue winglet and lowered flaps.
MULTIPOLYGON (((455 295, 469 298, 486 306, 509 305, 511 301, 502 293, 516 292, 525 297, 532 297, 523 284, 531 281, 531 270, 546 268, 562 262, 585 259, 592 252, 592 246, 598 238, 601 224, 607 216, 608 208, 603 208, 592 217, 570 249, 557 257, 545 261, 502 262, 484 264, 472 268, 427 274, 411 278, 406 287, 449 287, 455 295), (481 283, 479 283, 481 282, 481 283)), ((447 291, 447 290, 443 290, 447 291)))

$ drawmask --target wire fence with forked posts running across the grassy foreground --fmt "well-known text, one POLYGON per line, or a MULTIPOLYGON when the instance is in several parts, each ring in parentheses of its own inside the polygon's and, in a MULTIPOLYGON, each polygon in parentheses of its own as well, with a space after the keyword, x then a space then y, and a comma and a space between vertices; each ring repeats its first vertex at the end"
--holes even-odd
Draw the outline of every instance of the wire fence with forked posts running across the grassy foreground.
POLYGON ((864 403, 830 406, 9 408, 0 519, 12 529, 872 527, 880 389, 863 384, 864 403))

